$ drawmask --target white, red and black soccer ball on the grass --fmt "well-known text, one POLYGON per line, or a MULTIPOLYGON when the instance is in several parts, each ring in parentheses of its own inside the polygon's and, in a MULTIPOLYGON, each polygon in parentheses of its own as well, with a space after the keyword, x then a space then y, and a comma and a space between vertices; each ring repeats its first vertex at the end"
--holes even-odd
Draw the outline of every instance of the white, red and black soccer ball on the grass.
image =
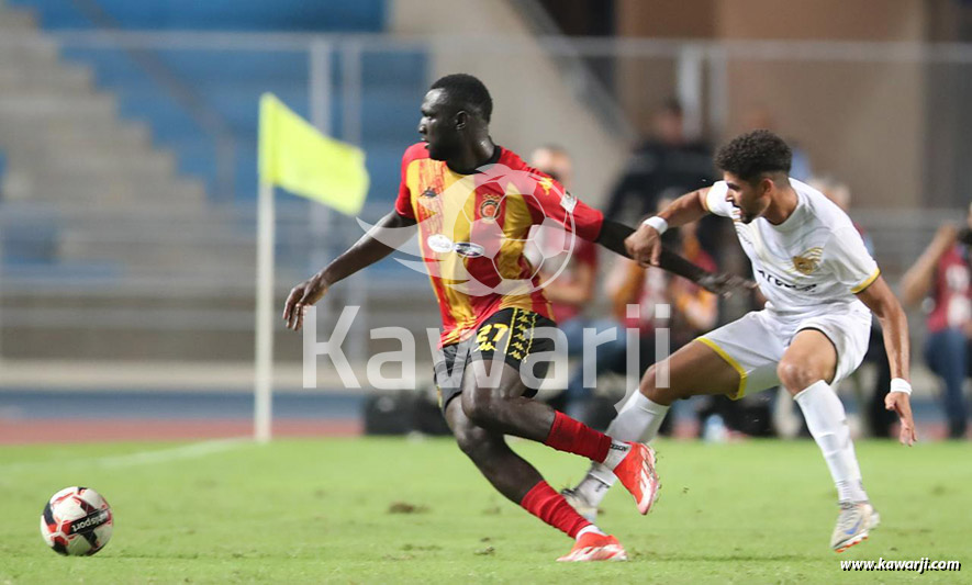
POLYGON ((114 519, 101 494, 88 487, 65 487, 51 496, 41 515, 41 536, 58 554, 94 554, 111 540, 114 519))

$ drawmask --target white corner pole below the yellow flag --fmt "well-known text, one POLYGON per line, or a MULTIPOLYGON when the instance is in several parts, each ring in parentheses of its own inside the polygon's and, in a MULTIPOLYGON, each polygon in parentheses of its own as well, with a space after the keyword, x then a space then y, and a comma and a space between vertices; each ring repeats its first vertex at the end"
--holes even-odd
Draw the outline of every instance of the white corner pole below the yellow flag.
POLYGON ((273 183, 261 179, 257 201, 257 311, 254 438, 270 440, 273 383, 273 183))

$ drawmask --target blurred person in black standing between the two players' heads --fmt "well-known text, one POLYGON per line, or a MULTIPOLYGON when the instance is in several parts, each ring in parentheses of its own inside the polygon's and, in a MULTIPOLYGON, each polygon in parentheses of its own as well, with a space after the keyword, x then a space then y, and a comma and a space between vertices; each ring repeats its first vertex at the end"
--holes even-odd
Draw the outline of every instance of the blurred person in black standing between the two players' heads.
MULTIPOLYGON (((667 100, 652 116, 651 125, 651 136, 635 148, 611 192, 604 212, 610 220, 637 224, 655 213, 662 198, 674 199, 713 182, 712 148, 685 136, 684 113, 678 100, 667 100)), ((702 247, 716 259, 724 225, 706 216, 699 230, 702 247)))

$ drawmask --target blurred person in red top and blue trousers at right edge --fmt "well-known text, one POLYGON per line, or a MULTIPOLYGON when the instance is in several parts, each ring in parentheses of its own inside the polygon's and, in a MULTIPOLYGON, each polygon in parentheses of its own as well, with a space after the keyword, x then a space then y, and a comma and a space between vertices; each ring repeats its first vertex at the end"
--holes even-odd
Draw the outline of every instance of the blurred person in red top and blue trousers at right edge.
POLYGON ((926 296, 928 338, 925 361, 945 385, 942 406, 948 436, 960 439, 968 428, 962 384, 970 373, 972 356, 972 204, 962 230, 952 225, 938 229, 935 239, 902 279, 902 297, 917 305, 926 296))

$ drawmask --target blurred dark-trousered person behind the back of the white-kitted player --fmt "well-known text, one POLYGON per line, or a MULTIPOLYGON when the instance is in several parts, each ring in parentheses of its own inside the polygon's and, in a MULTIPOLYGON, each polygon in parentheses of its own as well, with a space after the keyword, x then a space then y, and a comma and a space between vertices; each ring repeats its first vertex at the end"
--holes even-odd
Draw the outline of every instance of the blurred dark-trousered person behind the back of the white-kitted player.
MULTIPOLYGON (((874 256, 874 241, 871 236, 853 221, 850 212, 851 193, 850 188, 833 177, 814 177, 809 180, 809 185, 824 193, 824 195, 837 204, 848 216, 851 217, 854 228, 864 240, 864 247, 868 254, 874 256)), ((874 389, 870 393, 867 404, 862 404, 865 410, 868 430, 872 437, 891 437, 891 425, 894 424, 895 414, 884 408, 884 396, 891 389, 891 365, 887 363, 887 352, 884 351, 884 336, 881 331, 881 324, 878 319, 871 322, 871 338, 868 345, 868 352, 864 353, 864 362, 872 363, 876 369, 878 376, 874 380, 874 389)), ((859 398, 862 398, 863 389, 861 387, 860 370, 850 376, 851 381, 857 385, 859 398)), ((863 402, 863 401, 861 401, 863 402)))

